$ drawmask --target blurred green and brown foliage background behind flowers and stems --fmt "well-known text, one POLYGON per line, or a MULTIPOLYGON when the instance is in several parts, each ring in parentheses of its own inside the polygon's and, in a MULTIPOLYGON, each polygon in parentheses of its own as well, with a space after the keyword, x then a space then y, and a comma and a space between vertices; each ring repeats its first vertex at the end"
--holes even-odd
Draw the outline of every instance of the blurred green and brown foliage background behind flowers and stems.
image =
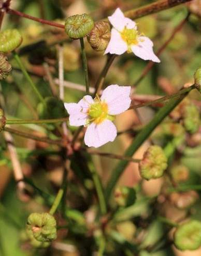
MULTIPOLYGON (((64 24, 67 16, 77 12, 88 12, 94 20, 99 20, 106 18, 118 6, 122 10, 130 10, 154 1, 83 0, 76 2, 77 0, 16 0, 11 3, 11 7, 34 17, 64 24)), ((136 22, 139 24, 140 32, 154 41, 154 52, 157 52, 188 13, 188 5, 179 5, 139 18, 136 22)), ((156 64, 145 79, 135 86, 135 94, 142 94, 143 100, 148 101, 147 96, 173 94, 184 85, 194 83, 193 74, 200 67, 201 59, 201 22, 199 15, 192 11, 189 15, 182 29, 164 48, 160 55, 161 63, 156 64)), ((67 117, 62 100, 59 99, 58 82, 55 80, 59 76, 58 45, 62 44, 67 49, 64 55, 64 63, 66 62, 64 80, 68 84, 64 90, 64 101, 77 102, 84 95, 84 91, 77 90, 78 86, 84 85, 79 42, 69 40, 62 29, 13 14, 4 16, 1 29, 8 28, 19 29, 23 36, 23 43, 17 52, 38 91, 46 97, 48 109, 39 103, 10 53, 8 59, 12 65, 12 72, 6 80, 0 82, 0 103, 7 119, 29 120, 37 119, 38 116, 42 119, 67 117), (74 83, 73 87, 70 87, 69 83, 74 83)), ((94 52, 87 41, 85 48, 90 85, 94 87, 104 67, 106 56, 103 56, 103 53, 94 52)), ((127 53, 118 56, 109 69, 104 87, 116 83, 134 85, 147 67, 147 63, 127 53)), ((143 100, 136 99, 136 104, 143 103, 143 100)), ((200 106, 200 94, 192 91, 188 96, 188 103, 182 101, 149 137, 150 144, 159 144, 169 153, 168 170, 163 180, 158 181, 159 187, 153 184, 146 190, 148 183, 139 177, 136 163, 131 165, 130 169, 125 171, 125 175, 123 174, 119 185, 132 186, 136 191, 133 193, 136 195, 136 200, 131 200, 132 205, 129 203, 122 207, 115 202, 112 195, 108 202, 109 213, 106 216, 101 216, 99 212, 97 203, 99 198, 93 180, 94 172, 98 173, 105 189, 111 170, 118 163, 117 159, 113 159, 112 156, 111 158, 104 158, 101 155, 92 156, 93 152, 87 153, 85 148, 81 148, 73 155, 69 153, 71 160, 69 166, 65 151, 68 141, 62 140, 60 123, 14 125, 16 130, 23 133, 46 136, 52 140, 60 139, 64 143, 58 146, 13 134, 26 184, 25 190, 19 191, 11 174, 13 168, 5 137, 1 133, 0 256, 84 256, 94 255, 97 253, 97 248, 102 246, 103 248, 105 246, 105 253, 101 254, 100 249, 98 256, 177 255, 175 247, 170 246, 173 244, 169 236, 171 223, 163 223, 159 217, 165 216, 170 219, 170 222, 179 222, 191 215, 193 219, 201 221, 200 200, 191 208, 178 210, 169 197, 169 194, 177 189, 181 191, 195 189, 200 196, 200 106), (187 105, 191 109, 187 109, 184 114, 183 111, 187 105), (189 119, 186 117, 188 115, 189 119), (174 180, 171 167, 175 168, 175 164, 183 164, 188 168, 189 177, 186 180, 182 182, 174 180), (68 169, 68 175, 63 179, 65 169, 68 169), (62 184, 63 180, 67 181, 67 184, 62 184), (58 222, 58 240, 52 242, 47 249, 33 248, 24 234, 27 216, 32 212, 48 212, 61 187, 65 195, 58 212, 55 213, 58 222)), ((118 131, 126 130, 126 135, 119 135, 113 144, 108 143, 99 151, 123 155, 133 136, 145 124, 144 120, 146 122, 150 120, 157 107, 153 105, 150 108, 141 108, 137 113, 138 118, 132 113, 122 119, 117 118, 118 131), (131 120, 133 120, 132 123, 131 120), (127 125, 123 125, 124 123, 127 125)), ((75 127, 69 128, 69 133, 74 133, 75 127)), ((77 146, 79 148, 79 145, 77 146)), ((71 150, 71 148, 68 149, 71 150)), ((142 151, 145 150, 146 147, 142 151)), ((141 153, 140 159, 142 155, 141 153)))

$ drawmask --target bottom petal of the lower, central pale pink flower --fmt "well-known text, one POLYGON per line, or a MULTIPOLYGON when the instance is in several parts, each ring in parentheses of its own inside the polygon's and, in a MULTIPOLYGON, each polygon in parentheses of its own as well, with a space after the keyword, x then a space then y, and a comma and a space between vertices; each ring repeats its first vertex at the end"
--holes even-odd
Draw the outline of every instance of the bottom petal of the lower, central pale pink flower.
POLYGON ((102 123, 91 123, 87 127, 84 135, 84 143, 88 147, 101 147, 102 145, 113 142, 117 136, 116 126, 110 120, 104 120, 102 123))

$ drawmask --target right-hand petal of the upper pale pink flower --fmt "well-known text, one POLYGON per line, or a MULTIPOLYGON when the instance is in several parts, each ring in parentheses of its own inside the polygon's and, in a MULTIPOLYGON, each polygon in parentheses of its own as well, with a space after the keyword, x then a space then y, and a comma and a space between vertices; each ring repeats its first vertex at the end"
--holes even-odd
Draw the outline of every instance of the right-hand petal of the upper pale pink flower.
POLYGON ((141 59, 161 62, 153 52, 153 43, 147 36, 138 37, 139 44, 132 45, 133 53, 141 59))

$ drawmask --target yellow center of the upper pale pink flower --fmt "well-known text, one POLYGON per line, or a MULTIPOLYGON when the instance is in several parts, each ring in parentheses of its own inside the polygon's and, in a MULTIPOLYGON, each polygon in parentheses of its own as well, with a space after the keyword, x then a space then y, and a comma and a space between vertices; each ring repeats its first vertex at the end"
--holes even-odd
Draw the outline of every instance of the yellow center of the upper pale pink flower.
POLYGON ((138 44, 138 31, 136 29, 127 29, 126 27, 124 27, 123 31, 121 32, 121 38, 123 39, 123 41, 126 42, 127 46, 128 46, 128 53, 131 53, 131 45, 133 44, 138 44))

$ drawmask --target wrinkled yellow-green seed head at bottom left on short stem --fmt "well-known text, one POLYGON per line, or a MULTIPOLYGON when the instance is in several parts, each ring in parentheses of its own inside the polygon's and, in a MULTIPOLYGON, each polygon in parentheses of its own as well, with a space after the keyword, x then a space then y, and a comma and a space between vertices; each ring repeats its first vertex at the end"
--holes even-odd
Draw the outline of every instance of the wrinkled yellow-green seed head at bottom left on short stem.
POLYGON ((56 221, 49 213, 31 213, 26 223, 27 234, 39 242, 50 242, 56 239, 56 221))

